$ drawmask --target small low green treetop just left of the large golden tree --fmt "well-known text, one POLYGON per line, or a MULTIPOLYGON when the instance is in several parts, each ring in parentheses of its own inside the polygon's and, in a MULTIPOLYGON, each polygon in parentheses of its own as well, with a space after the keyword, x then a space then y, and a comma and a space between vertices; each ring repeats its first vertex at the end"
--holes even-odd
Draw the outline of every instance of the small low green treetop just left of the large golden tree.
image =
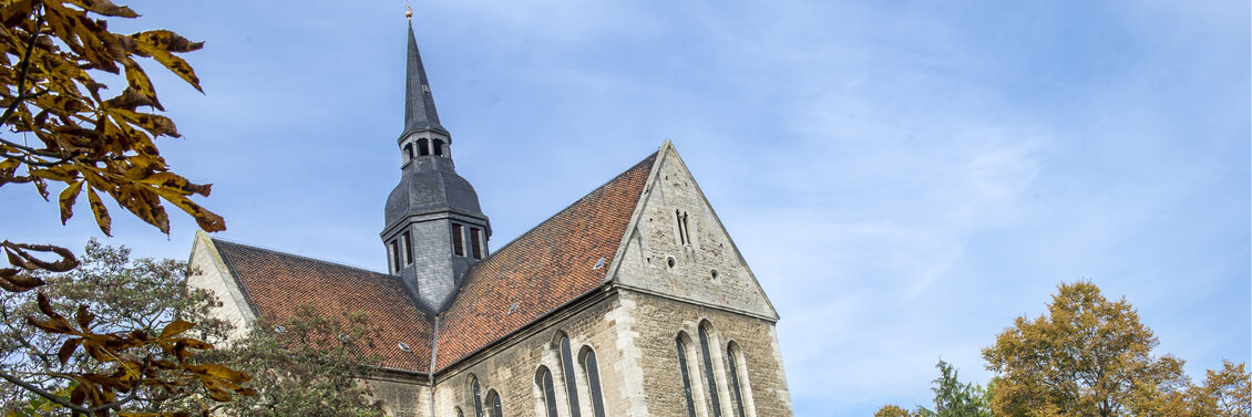
POLYGON ((935 363, 939 377, 930 388, 935 393, 934 411, 918 406, 914 411, 895 405, 883 406, 875 417, 992 417, 988 405, 988 392, 982 386, 963 383, 957 376, 957 368, 948 362, 935 363))

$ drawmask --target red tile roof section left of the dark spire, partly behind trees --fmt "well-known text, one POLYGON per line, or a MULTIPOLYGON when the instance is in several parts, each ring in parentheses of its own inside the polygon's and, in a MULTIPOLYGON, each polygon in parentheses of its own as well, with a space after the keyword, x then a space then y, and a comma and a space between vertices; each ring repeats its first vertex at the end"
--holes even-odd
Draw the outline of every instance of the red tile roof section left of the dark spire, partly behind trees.
POLYGON ((381 330, 374 346, 362 346, 367 355, 382 357, 388 368, 429 372, 431 317, 413 306, 399 277, 223 240, 213 243, 260 317, 282 320, 303 303, 327 317, 364 311, 368 325, 381 330), (412 352, 401 351, 401 342, 412 352))

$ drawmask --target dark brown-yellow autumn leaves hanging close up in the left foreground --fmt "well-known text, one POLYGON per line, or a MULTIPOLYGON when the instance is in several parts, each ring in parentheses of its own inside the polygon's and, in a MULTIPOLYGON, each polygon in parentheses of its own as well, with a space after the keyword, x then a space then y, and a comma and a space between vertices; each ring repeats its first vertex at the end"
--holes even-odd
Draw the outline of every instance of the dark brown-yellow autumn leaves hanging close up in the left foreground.
MULTIPOLYGON (((169 216, 163 201, 188 212, 205 231, 224 230, 220 216, 190 200, 197 194, 208 196, 209 186, 170 171, 156 149, 155 139, 179 136, 174 122, 140 110, 164 107, 136 59, 151 57, 199 90, 195 72, 175 54, 198 50, 203 44, 168 30, 131 35, 108 30, 105 19, 136 16, 109 0, 0 0, 0 126, 6 127, 0 136, 0 186, 29 184, 48 200, 49 184, 64 184, 58 195, 63 223, 74 215, 74 204, 85 191, 105 235, 111 217, 100 195, 165 233, 169 216), (103 97, 106 85, 95 79, 103 72, 123 75, 125 89, 103 97)), ((79 263, 71 251, 51 245, 4 240, 0 247, 9 262, 9 267, 0 267, 0 288, 8 292, 44 286, 41 272, 65 272, 79 263)), ((99 367, 30 373, 0 363, 0 380, 59 407, 109 416, 123 411, 140 391, 173 395, 193 385, 202 386, 215 401, 252 393, 239 386, 248 375, 194 361, 195 351, 213 346, 184 337, 183 332, 193 326, 188 321, 174 320, 159 332, 106 325, 98 328, 101 323, 86 305, 63 315, 45 293, 40 292, 35 301, 38 313, 25 320, 60 337, 58 362, 68 363, 81 350, 99 367), (44 390, 40 381, 48 378, 60 380, 69 391, 44 390)))

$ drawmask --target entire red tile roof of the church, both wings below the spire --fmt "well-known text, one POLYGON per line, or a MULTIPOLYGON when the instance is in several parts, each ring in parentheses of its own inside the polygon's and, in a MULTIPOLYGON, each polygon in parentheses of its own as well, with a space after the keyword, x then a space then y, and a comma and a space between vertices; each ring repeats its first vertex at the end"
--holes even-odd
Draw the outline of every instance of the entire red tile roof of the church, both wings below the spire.
MULTIPOLYGON (((441 316, 436 367, 600 287, 655 161, 656 154, 650 155, 475 265, 441 316), (605 265, 595 268, 601 258, 605 265)), ((213 243, 262 317, 288 317, 302 303, 331 317, 361 310, 382 330, 367 353, 383 357, 384 367, 429 371, 434 317, 417 310, 399 277, 222 240, 213 243), (401 342, 412 352, 401 351, 401 342)))

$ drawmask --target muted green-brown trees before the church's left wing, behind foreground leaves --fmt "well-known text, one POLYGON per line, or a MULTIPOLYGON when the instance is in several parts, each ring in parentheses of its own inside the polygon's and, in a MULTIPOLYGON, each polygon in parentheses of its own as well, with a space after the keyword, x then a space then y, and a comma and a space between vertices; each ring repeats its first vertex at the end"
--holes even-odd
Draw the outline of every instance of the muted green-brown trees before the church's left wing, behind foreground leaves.
MULTIPOLYGON (((177 321, 194 321, 187 335, 202 340, 223 341, 232 333, 230 323, 210 318, 220 302, 212 292, 187 287, 194 273, 187 262, 174 260, 133 258, 125 247, 111 247, 93 240, 83 251, 83 265, 68 273, 43 273, 41 288, 55 310, 88 305, 95 312, 100 328, 133 328, 158 333, 177 321)), ((0 316, 20 317, 39 311, 38 297, 30 292, 0 297, 0 316)), ((230 416, 381 416, 369 400, 369 391, 359 378, 369 375, 369 366, 378 358, 361 353, 359 346, 373 342, 376 328, 364 325, 363 313, 343 320, 321 317, 312 308, 302 308, 278 326, 257 322, 245 337, 228 346, 200 355, 202 361, 220 363, 253 375, 258 396, 237 400, 228 408, 230 416)), ((63 340, 40 331, 24 321, 5 320, 0 328, 0 363, 11 372, 44 376, 33 380, 49 392, 71 386, 48 377, 55 373, 94 372, 104 363, 78 351, 61 362, 56 352, 63 340)), ((63 392, 68 396, 69 392, 63 392)), ((189 387, 178 392, 149 390, 128 405, 128 412, 160 412, 163 410, 197 410, 203 388, 189 387)), ((55 403, 0 382, 0 416, 56 415, 55 403)), ((68 411, 60 408, 60 415, 68 411)))

